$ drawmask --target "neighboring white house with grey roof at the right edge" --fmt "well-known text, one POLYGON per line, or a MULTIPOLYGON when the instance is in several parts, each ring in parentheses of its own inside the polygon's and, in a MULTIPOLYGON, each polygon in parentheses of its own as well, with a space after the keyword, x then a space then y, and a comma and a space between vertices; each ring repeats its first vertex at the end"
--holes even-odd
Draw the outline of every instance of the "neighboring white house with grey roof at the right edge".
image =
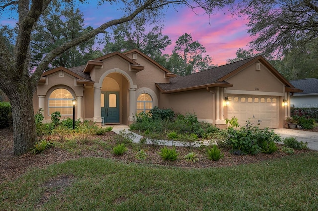
POLYGON ((293 93, 290 96, 290 105, 292 107, 306 108, 318 107, 318 79, 305 78, 300 80, 290 81, 290 83, 303 90, 301 93, 293 93))

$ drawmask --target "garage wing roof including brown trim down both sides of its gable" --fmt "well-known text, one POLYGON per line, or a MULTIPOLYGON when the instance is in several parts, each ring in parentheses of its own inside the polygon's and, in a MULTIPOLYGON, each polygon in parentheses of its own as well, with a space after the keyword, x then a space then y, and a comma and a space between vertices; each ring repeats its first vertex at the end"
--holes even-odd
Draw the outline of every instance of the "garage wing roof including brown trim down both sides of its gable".
POLYGON ((181 92, 209 87, 232 87, 233 84, 230 84, 225 80, 258 60, 262 62, 280 81, 282 81, 282 83, 289 88, 289 91, 301 92, 301 90, 295 89, 293 85, 291 85, 262 56, 247 58, 183 77, 178 76, 170 79, 170 83, 156 83, 156 86, 162 93, 181 92))

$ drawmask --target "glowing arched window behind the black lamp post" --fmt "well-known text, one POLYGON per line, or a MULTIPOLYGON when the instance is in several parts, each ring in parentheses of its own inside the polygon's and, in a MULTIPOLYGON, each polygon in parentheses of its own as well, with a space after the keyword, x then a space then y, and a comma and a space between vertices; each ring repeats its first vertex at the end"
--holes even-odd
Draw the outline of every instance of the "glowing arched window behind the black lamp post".
POLYGON ((55 89, 49 97, 48 114, 59 111, 61 115, 72 115, 72 94, 67 89, 55 89))

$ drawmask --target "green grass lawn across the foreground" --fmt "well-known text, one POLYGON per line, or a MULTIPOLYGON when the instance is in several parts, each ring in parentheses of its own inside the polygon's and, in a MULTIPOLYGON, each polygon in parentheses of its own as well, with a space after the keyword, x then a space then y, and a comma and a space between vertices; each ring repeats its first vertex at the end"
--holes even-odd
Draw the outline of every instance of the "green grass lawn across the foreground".
POLYGON ((318 210, 318 153, 183 169, 80 158, 0 185, 0 210, 318 210))

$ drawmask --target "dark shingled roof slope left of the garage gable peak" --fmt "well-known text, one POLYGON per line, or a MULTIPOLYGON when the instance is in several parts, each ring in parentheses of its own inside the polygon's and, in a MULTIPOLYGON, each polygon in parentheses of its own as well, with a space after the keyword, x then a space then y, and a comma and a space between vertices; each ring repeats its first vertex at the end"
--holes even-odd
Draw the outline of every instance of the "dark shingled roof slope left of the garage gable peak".
POLYGON ((202 72, 197 72, 187 76, 178 76, 175 78, 170 79, 170 83, 157 83, 156 85, 161 89, 163 92, 173 92, 178 90, 186 90, 195 87, 202 87, 202 86, 213 86, 213 85, 224 85, 224 86, 232 86, 228 82, 219 81, 222 77, 228 75, 229 73, 233 72, 234 70, 238 69, 239 67, 243 66, 244 64, 250 62, 251 60, 255 59, 255 57, 251 57, 248 59, 244 59, 241 61, 237 61, 231 64, 219 66, 216 68, 208 69, 202 72))

